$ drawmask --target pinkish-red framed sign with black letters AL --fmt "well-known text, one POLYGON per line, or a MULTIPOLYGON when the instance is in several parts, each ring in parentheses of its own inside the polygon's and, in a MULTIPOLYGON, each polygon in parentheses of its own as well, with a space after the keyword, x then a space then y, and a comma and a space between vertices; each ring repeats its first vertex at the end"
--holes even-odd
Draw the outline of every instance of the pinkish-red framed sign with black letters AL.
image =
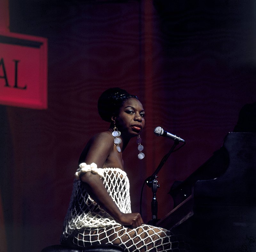
POLYGON ((47 108, 47 39, 0 33, 0 104, 47 108))

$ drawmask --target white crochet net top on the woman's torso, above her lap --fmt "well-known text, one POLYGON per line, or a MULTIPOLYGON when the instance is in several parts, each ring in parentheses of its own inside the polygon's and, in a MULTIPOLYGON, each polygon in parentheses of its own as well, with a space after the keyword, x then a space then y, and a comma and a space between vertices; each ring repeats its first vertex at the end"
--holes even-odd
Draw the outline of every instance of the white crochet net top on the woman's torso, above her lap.
MULTIPOLYGON (((103 169, 103 183, 120 211, 131 212, 130 184, 126 173, 119 168, 103 169)), ((62 239, 75 229, 120 225, 91 198, 80 180, 73 185, 73 192, 64 223, 62 239)))

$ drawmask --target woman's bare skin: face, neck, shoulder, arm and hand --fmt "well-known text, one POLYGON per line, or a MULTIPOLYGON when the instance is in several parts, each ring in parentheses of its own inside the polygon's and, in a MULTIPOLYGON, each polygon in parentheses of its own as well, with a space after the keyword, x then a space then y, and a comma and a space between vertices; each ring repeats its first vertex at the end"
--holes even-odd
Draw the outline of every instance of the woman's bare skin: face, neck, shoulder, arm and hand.
MULTIPOLYGON (((107 131, 94 136, 86 145, 80 157, 80 163, 96 163, 98 167, 118 167, 124 170, 122 152, 132 137, 137 137, 145 125, 145 112, 142 104, 136 98, 128 98, 120 107, 118 114, 111 117, 111 124, 107 131), (116 151, 113 144, 112 132, 114 125, 122 132, 120 148, 116 151)), ((87 192, 92 198, 116 221, 124 226, 138 227, 143 224, 139 213, 122 213, 109 196, 102 180, 97 174, 85 173, 80 179, 84 182, 87 192)))

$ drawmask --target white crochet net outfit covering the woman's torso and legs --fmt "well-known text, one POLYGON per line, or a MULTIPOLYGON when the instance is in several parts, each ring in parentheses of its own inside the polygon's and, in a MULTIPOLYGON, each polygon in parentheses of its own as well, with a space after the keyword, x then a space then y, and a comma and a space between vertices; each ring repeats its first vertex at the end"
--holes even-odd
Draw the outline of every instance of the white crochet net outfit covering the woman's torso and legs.
MULTIPOLYGON (((104 168, 103 183, 123 213, 131 213, 129 180, 119 168, 104 168)), ((117 223, 90 197, 80 180, 74 181, 61 243, 73 247, 117 244, 127 252, 187 251, 184 241, 170 231, 143 224, 129 228, 117 223)))

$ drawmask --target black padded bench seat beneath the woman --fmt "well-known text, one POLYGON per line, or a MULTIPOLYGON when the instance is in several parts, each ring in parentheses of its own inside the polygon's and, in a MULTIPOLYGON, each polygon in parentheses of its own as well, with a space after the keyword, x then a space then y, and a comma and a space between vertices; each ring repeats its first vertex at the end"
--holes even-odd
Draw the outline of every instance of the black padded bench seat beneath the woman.
POLYGON ((41 252, 124 252, 124 248, 113 244, 86 246, 85 248, 70 248, 66 245, 52 245, 41 252))

